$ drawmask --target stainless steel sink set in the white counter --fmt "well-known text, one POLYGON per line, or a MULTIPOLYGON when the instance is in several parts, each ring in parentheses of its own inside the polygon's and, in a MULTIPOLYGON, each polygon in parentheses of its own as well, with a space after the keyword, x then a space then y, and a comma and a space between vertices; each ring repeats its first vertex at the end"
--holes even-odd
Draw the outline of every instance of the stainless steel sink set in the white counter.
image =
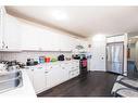
POLYGON ((8 72, 0 74, 0 92, 4 92, 11 89, 23 86, 22 72, 8 72))

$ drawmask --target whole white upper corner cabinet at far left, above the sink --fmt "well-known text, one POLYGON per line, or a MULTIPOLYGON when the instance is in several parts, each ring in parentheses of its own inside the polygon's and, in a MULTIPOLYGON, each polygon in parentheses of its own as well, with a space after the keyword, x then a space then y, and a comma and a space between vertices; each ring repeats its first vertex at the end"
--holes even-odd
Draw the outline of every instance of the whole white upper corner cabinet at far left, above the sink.
POLYGON ((18 21, 5 13, 3 7, 0 8, 0 50, 21 50, 21 34, 18 21))

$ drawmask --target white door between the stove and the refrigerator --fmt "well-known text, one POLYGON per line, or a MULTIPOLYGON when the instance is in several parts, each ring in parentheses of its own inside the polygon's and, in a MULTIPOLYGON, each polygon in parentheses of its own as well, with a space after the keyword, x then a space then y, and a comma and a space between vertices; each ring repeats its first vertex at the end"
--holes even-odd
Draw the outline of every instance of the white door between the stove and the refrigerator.
POLYGON ((93 41, 91 54, 90 70, 105 70, 105 41, 93 41))

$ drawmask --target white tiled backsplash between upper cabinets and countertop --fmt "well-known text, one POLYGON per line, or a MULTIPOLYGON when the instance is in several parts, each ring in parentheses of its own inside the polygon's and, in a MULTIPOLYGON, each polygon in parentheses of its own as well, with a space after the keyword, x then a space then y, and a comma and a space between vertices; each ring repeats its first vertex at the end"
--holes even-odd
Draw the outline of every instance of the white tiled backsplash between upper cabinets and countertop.
POLYGON ((39 56, 52 56, 57 57, 60 54, 65 56, 72 56, 72 52, 34 52, 34 51, 23 51, 23 52, 0 52, 1 61, 13 61, 26 63, 27 59, 38 59, 39 56))

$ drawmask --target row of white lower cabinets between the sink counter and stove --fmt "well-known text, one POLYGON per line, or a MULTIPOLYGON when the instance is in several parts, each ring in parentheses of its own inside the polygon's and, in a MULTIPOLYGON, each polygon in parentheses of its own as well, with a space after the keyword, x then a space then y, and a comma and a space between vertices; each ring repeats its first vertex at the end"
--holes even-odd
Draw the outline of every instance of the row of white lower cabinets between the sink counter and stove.
POLYGON ((40 93, 79 75, 79 62, 58 62, 27 69, 36 93, 40 93))

